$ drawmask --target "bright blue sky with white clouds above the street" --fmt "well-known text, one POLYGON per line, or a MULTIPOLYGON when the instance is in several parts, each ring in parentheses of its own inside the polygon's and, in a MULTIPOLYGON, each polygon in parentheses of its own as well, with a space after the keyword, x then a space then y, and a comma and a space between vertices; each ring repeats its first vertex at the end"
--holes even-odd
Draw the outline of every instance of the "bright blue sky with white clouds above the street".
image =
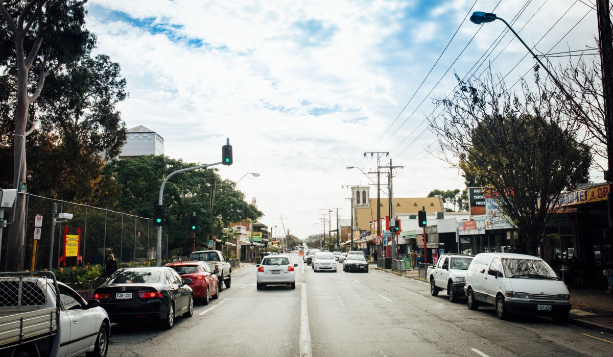
POLYGON ((595 46, 593 2, 90 0, 86 26, 95 54, 127 80, 126 127, 157 132, 166 156, 197 164, 221 161, 229 138, 234 164, 219 175, 240 180, 273 234, 306 238, 323 219, 334 230, 337 210, 350 219, 349 187, 376 183, 377 155, 366 152, 400 167, 394 197, 465 189, 428 129, 433 99, 451 93, 455 73, 480 77, 489 64, 512 87, 535 64, 502 21, 473 24, 473 11, 504 18, 537 53, 558 53, 595 46))

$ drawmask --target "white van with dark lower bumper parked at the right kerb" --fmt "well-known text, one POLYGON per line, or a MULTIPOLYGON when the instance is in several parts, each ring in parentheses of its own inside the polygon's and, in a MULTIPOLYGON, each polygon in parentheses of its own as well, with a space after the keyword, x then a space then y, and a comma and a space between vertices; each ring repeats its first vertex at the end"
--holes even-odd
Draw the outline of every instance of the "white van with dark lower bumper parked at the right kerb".
POLYGON ((479 304, 496 306, 496 315, 543 315, 558 322, 568 320, 570 294, 543 259, 514 253, 481 253, 466 273, 464 287, 468 309, 479 304))

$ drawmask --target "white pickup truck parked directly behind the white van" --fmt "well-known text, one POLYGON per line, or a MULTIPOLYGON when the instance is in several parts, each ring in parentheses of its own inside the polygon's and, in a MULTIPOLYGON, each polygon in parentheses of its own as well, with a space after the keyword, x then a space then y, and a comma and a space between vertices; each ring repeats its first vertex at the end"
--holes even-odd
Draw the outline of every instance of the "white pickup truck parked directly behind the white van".
POLYGON ((464 296, 466 271, 473 257, 461 254, 443 254, 436 266, 428 267, 427 277, 430 282, 430 294, 437 296, 438 291, 447 290, 449 301, 455 303, 459 296, 464 296))

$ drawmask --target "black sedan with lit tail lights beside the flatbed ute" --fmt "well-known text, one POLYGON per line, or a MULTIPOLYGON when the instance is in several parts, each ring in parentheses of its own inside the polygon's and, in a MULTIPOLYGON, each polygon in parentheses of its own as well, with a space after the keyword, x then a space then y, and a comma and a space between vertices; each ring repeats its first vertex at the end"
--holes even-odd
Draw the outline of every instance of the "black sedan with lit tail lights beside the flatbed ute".
POLYGON ((159 321, 170 329, 175 316, 194 314, 194 292, 187 285, 191 279, 181 279, 166 266, 123 268, 114 272, 94 291, 112 322, 134 320, 159 321))

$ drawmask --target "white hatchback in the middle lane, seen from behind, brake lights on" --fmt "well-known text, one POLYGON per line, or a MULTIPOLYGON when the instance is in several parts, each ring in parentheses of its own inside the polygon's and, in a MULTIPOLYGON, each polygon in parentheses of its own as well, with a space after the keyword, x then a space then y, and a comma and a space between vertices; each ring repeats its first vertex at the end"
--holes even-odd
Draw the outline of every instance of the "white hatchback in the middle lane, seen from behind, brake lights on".
POLYGON ((292 260, 287 255, 273 255, 262 259, 261 264, 256 268, 256 287, 262 290, 266 285, 289 285, 296 288, 297 264, 292 264, 292 260))

